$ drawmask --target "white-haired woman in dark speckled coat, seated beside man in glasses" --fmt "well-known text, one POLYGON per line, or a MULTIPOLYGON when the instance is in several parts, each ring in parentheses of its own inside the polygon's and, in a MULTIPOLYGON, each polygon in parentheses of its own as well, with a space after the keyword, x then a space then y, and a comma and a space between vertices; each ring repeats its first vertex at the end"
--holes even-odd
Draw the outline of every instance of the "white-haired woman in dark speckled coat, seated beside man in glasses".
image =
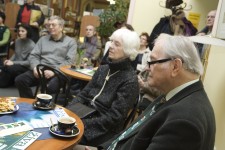
POLYGON ((138 96, 138 80, 131 61, 137 56, 140 39, 134 31, 118 29, 110 40, 107 64, 98 68, 68 107, 75 112, 73 107, 80 102, 96 110, 82 118, 81 144, 96 146, 119 133, 138 96))

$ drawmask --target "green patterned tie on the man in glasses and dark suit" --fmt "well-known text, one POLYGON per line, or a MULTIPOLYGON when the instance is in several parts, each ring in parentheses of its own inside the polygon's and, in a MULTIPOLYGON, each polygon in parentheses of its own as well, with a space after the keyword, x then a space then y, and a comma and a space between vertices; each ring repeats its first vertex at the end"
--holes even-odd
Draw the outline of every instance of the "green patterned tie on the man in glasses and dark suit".
POLYGON ((141 124, 146 122, 148 118, 150 118, 155 112, 158 107, 160 107, 162 104, 165 103, 165 97, 162 97, 160 101, 158 101, 152 109, 147 112, 138 122, 130 126, 126 131, 124 131, 118 138, 116 138, 112 144, 108 147, 107 150, 114 150, 116 148, 116 145, 119 141, 126 138, 132 131, 134 131, 136 128, 138 128, 141 124))

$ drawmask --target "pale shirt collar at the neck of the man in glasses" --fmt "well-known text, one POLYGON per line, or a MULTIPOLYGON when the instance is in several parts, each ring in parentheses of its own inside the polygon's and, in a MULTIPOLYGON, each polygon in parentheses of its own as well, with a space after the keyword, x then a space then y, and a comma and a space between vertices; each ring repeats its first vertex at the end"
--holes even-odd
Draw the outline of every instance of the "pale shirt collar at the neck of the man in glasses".
POLYGON ((176 87, 175 89, 171 90, 168 94, 166 94, 166 101, 168 101, 169 99, 171 99, 174 95, 176 95, 178 92, 180 92, 184 88, 186 88, 189 85, 194 84, 195 82, 198 82, 198 81, 199 81, 199 79, 195 79, 195 80, 189 81, 187 83, 184 83, 184 84, 176 87))

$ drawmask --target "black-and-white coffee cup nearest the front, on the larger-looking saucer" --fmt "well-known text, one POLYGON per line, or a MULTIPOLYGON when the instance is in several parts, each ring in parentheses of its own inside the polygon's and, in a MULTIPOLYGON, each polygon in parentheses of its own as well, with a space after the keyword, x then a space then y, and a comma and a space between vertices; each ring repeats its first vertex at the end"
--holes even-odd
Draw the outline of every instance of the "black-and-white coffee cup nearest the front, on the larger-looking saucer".
POLYGON ((65 133, 71 134, 73 127, 75 126, 76 119, 69 116, 63 116, 58 119, 58 130, 65 133))

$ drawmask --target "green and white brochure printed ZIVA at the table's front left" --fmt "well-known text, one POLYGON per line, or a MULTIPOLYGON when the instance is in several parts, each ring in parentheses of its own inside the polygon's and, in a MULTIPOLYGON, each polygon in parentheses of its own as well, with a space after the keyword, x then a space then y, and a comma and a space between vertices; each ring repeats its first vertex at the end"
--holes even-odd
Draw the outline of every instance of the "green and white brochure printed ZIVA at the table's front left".
POLYGON ((24 131, 4 137, 0 137, 0 150, 24 150, 31 145, 41 133, 24 131))

